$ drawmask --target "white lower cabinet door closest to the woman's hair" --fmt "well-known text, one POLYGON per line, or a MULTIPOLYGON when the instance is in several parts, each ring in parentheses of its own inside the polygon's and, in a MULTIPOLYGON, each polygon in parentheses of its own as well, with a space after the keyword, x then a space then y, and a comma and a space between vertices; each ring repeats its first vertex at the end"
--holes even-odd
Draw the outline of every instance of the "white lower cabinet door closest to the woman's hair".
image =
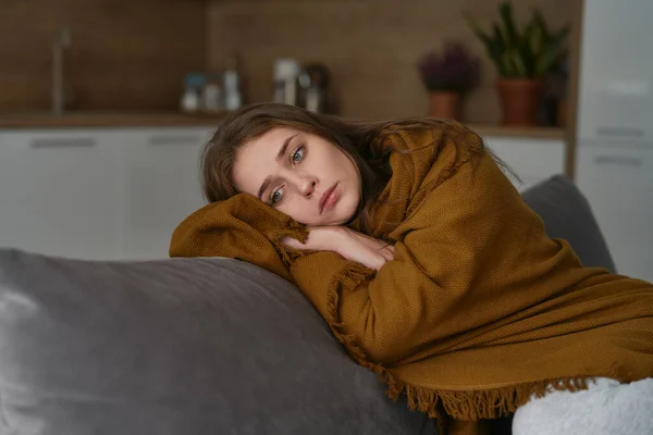
POLYGON ((210 133, 187 127, 126 134, 125 259, 168 258, 174 228, 205 204, 199 158, 210 133))

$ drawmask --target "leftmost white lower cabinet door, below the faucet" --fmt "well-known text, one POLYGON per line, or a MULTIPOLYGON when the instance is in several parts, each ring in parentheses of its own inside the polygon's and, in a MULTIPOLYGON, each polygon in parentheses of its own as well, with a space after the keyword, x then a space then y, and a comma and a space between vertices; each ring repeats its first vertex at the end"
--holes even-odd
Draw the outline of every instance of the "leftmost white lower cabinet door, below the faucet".
POLYGON ((119 142, 96 130, 0 133, 0 247, 115 259, 119 142))

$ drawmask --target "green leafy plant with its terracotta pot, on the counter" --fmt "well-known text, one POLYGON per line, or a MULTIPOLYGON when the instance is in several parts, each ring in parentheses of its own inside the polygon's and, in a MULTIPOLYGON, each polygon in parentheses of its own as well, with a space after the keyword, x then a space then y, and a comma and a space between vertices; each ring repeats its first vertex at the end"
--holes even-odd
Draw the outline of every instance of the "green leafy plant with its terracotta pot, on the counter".
POLYGON ((531 18, 518 29, 509 1, 503 1, 498 12, 501 21, 494 23, 489 33, 483 32, 470 15, 467 18, 496 66, 502 123, 506 126, 537 125, 543 77, 564 54, 569 27, 550 32, 540 11, 533 9, 531 18))

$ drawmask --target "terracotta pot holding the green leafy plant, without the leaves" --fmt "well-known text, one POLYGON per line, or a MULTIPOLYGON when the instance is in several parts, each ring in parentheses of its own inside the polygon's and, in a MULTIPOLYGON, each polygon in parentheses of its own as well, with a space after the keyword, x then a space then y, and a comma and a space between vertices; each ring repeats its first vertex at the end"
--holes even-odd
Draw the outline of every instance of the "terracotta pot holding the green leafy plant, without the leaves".
POLYGON ((500 78, 496 80, 496 89, 501 100, 503 125, 538 125, 538 109, 544 89, 543 80, 500 78))

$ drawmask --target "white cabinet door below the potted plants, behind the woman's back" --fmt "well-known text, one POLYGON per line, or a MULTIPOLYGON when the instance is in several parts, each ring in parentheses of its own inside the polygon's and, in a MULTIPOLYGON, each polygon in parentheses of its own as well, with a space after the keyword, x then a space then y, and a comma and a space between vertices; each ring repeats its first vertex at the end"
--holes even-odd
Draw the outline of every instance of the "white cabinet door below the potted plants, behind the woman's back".
POLYGON ((484 137, 483 140, 521 179, 510 176, 518 190, 565 172, 563 140, 516 137, 484 137))

